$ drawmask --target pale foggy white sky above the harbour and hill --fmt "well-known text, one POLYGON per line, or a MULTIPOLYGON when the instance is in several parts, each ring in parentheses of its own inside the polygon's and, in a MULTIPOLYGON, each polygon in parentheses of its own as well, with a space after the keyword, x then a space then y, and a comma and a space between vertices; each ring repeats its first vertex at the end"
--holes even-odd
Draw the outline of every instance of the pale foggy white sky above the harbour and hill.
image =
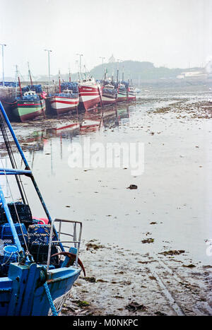
MULTIPOLYGON (((5 76, 88 70, 116 59, 187 68, 212 57, 212 0, 0 0, 5 76)), ((0 80, 2 65, 0 53, 0 80)))

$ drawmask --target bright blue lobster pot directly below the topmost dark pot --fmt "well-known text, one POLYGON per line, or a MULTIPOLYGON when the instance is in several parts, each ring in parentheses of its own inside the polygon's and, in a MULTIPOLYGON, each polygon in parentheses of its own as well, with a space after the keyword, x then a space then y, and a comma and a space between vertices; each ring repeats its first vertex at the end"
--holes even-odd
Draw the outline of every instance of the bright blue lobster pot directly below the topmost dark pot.
MULTIPOLYGON (((16 232, 18 234, 18 238, 20 240, 21 245, 28 244, 28 232, 25 228, 24 223, 14 223, 16 228, 16 232), (25 242, 24 242, 25 239, 25 242)), ((4 225, 0 225, 0 237, 1 240, 4 240, 4 244, 13 244, 14 238, 11 231, 11 226, 8 223, 4 223, 4 225)))

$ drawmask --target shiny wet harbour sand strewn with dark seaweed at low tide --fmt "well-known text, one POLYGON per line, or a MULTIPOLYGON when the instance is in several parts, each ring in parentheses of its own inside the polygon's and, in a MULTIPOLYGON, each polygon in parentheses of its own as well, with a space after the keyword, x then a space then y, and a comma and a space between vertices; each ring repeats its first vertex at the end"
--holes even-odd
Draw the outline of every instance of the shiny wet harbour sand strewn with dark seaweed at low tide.
MULTIPOLYGON (((63 315, 212 314, 210 93, 154 90, 76 134, 49 133, 57 119, 13 124, 52 216, 83 222, 86 278, 74 284, 63 315), (141 141, 143 175, 70 169, 70 143, 83 136, 104 145, 141 141)), ((100 118, 90 112, 81 120, 100 118)))

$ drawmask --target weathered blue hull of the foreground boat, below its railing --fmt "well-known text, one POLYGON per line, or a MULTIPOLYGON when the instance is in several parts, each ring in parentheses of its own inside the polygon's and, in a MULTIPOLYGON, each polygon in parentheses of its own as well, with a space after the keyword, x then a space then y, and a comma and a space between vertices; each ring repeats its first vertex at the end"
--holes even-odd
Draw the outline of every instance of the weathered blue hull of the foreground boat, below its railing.
POLYGON ((10 264, 8 277, 0 281, 0 316, 52 315, 44 283, 59 314, 80 273, 81 268, 69 266, 49 270, 46 278, 43 266, 10 264))

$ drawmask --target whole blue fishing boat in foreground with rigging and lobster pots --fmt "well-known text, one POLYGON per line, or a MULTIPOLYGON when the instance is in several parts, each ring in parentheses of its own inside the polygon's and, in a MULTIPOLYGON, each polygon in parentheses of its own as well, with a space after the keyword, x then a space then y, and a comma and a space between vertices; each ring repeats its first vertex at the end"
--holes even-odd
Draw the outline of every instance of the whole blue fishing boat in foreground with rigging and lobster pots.
POLYGON ((1 102, 0 129, 11 161, 8 168, 1 158, 0 167, 0 315, 59 315, 81 270, 86 276, 78 258, 82 223, 52 219, 1 102), (16 166, 8 134, 24 170, 16 166), (46 218, 32 215, 22 176, 35 187, 46 218), (17 184, 17 199, 10 179, 17 184), (11 201, 4 194, 6 184, 11 201))

